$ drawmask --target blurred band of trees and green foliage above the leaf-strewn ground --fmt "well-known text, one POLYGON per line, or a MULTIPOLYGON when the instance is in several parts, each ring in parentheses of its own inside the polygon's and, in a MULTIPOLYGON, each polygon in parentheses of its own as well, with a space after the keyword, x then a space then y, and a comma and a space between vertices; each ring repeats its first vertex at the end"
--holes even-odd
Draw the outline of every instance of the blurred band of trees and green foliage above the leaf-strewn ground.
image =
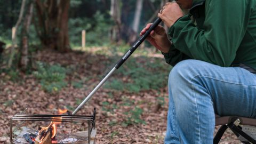
POLYGON ((134 42, 136 39, 133 37, 138 36, 138 31, 146 23, 156 18, 161 5, 167 1, 71 0, 57 4, 57 1, 27 0, 25 9, 21 13, 22 2, 15 0, 0 2, 1 41, 7 45, 12 43, 12 27, 17 24, 19 14, 22 14, 17 31, 18 42, 21 41, 19 36, 22 35, 23 27, 27 26, 30 45, 38 45, 47 38, 57 38, 54 34, 68 32, 70 47, 74 48, 81 46, 82 30, 86 30, 87 46, 102 46, 119 41, 134 42), (30 4, 33 6, 30 7, 30 4), (33 9, 32 12, 30 9, 33 9))

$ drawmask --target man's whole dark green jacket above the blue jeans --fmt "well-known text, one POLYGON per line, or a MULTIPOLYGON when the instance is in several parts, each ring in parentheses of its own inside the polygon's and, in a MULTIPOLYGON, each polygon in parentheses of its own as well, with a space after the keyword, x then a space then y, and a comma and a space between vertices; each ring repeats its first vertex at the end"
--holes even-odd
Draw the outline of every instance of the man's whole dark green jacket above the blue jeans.
POLYGON ((166 62, 174 66, 197 59, 256 69, 256 0, 206 0, 193 5, 169 30, 173 45, 163 53, 166 62))

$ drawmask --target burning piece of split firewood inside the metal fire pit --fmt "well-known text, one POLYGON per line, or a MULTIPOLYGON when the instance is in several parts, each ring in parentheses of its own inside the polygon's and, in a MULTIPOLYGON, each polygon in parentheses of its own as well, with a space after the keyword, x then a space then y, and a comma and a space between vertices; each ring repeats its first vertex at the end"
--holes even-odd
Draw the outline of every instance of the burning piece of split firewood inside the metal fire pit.
POLYGON ((35 139, 35 144, 52 144, 52 126, 43 127, 35 139))

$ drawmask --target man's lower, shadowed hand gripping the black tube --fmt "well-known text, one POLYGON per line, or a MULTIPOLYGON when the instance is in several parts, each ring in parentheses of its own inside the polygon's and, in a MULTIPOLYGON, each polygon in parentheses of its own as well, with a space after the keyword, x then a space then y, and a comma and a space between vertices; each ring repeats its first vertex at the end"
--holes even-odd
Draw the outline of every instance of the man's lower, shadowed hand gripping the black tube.
MULTIPOLYGON (((150 28, 152 23, 149 23, 145 28, 141 30, 140 36, 146 33, 150 28)), ((167 53, 171 47, 171 42, 169 41, 166 31, 162 26, 157 26, 150 35, 147 37, 150 44, 154 45, 158 50, 167 53)))

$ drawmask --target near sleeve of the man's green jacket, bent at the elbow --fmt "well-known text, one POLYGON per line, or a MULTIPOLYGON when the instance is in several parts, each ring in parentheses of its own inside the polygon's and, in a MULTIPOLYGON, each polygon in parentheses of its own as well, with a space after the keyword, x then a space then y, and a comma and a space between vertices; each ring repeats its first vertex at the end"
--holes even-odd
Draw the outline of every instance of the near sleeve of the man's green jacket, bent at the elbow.
POLYGON ((207 0, 203 30, 194 25, 189 15, 170 28, 175 49, 192 59, 229 67, 247 29, 250 13, 246 9, 247 3, 242 0, 207 0))

